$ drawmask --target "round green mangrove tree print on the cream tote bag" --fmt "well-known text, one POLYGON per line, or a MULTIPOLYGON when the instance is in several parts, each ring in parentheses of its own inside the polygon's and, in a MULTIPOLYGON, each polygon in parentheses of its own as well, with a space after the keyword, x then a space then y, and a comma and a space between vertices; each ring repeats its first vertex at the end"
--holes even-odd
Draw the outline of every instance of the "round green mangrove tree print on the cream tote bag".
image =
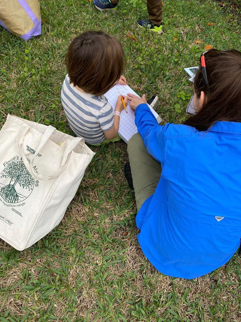
POLYGON ((34 178, 22 161, 8 162, 0 173, 0 196, 7 203, 22 202, 31 194, 33 187, 34 178))

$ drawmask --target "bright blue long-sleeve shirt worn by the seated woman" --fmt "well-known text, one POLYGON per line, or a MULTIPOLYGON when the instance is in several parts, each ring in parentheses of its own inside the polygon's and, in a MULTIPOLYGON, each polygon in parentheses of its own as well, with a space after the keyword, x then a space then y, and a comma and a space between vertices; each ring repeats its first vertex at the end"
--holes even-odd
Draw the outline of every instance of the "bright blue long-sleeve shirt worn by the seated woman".
POLYGON ((135 122, 162 166, 136 217, 145 256, 160 272, 186 279, 222 266, 241 237, 241 123, 218 121, 205 132, 160 126, 146 104, 135 122))

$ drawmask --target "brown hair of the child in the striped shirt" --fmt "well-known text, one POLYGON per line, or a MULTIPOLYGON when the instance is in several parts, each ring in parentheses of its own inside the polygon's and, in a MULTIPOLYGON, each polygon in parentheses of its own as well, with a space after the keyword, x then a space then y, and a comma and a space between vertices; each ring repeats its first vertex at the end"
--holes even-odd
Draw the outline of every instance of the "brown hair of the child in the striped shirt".
POLYGON ((125 53, 116 38, 103 31, 86 31, 71 42, 66 66, 70 83, 86 93, 103 95, 123 74, 125 53))

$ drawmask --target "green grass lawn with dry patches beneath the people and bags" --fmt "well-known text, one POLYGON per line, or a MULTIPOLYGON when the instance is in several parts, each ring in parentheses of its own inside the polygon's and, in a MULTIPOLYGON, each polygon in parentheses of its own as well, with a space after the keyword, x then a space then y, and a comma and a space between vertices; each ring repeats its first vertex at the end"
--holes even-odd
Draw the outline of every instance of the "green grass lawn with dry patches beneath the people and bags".
MULTIPOLYGON (((159 95, 164 123, 185 119, 192 88, 183 68, 197 65, 206 45, 241 50, 236 17, 213 0, 165 0, 161 36, 137 29, 137 19, 147 18, 142 0, 121 0, 115 14, 87 0, 41 0, 40 7, 40 37, 24 42, 0 29, 1 127, 10 113, 73 135, 60 103, 64 57, 86 29, 122 42, 128 84, 148 98, 159 95)), ((167 277, 145 259, 134 193, 123 178, 126 147, 93 149, 63 221, 38 243, 20 252, 0 241, 0 322, 241 321, 237 254, 194 280, 167 277)))

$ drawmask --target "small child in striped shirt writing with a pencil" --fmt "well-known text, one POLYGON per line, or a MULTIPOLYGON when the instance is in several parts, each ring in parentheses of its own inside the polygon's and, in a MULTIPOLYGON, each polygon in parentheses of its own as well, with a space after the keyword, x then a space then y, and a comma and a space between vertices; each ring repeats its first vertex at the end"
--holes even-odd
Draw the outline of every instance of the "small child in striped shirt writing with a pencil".
POLYGON ((113 112, 103 94, 115 84, 126 85, 121 43, 102 31, 84 32, 71 42, 66 66, 61 102, 71 129, 89 144, 119 141, 121 96, 113 112))

